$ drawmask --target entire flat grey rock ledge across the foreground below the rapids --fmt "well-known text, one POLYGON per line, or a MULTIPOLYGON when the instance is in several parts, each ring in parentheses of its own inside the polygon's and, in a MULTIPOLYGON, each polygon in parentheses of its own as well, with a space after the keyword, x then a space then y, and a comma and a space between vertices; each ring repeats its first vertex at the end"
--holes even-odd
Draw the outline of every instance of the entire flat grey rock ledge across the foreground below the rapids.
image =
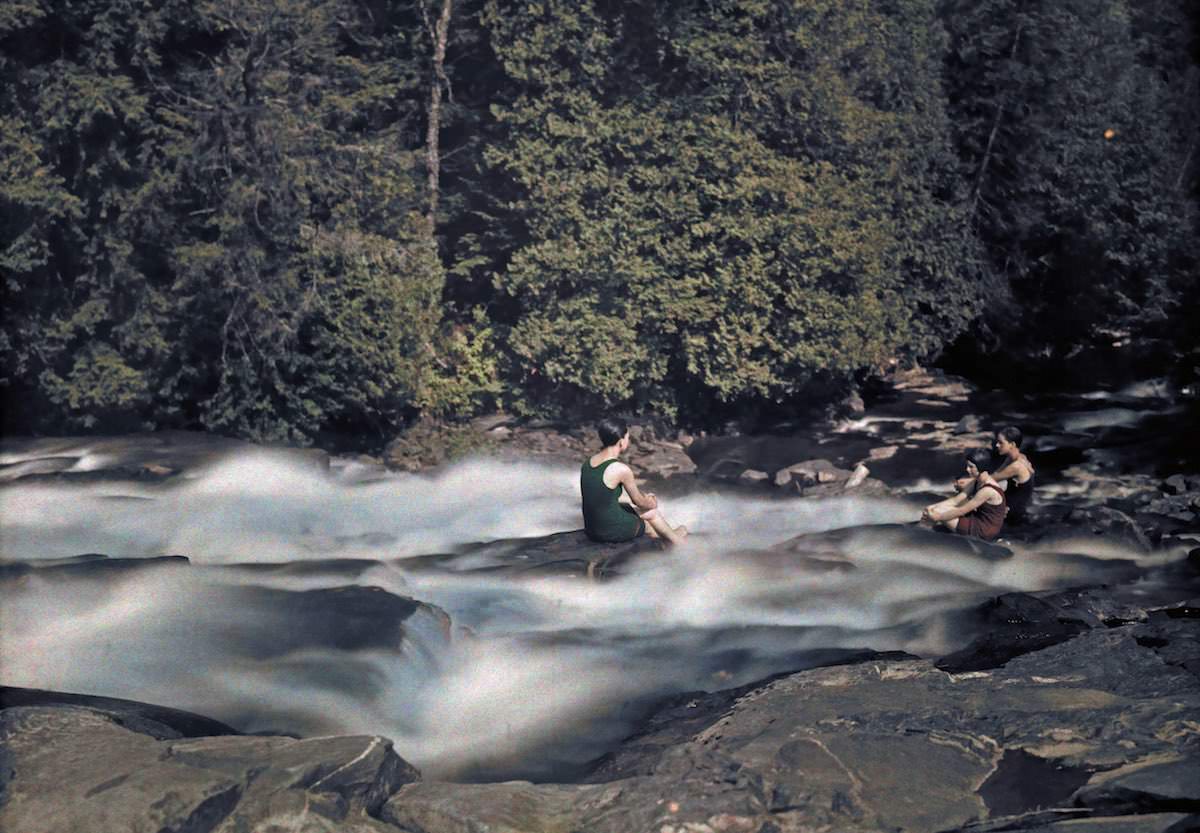
POLYGON ((380 737, 155 737, 150 713, 14 705, 0 829, 1196 831, 1198 617, 1102 617, 984 670, 876 657, 682 695, 574 784, 421 781, 380 737))

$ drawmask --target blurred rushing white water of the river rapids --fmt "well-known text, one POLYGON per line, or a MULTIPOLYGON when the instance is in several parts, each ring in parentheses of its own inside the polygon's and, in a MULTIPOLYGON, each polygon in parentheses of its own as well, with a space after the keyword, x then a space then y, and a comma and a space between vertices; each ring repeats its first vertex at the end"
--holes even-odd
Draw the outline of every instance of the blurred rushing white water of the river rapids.
POLYGON ((192 565, 8 577, 2 682, 170 705, 246 731, 386 735, 431 774, 538 777, 602 753, 653 697, 748 683, 829 649, 946 652, 970 637, 949 615, 982 594, 1081 583, 1132 557, 989 561, 878 526, 913 520, 911 503, 697 492, 664 499, 690 544, 613 581, 416 570, 415 556, 577 528, 577 471, 470 461, 436 477, 353 474, 239 454, 174 485, 6 486, 7 562, 179 553, 192 565), (812 569, 804 546, 770 550, 848 527, 826 546, 854 569, 812 569), (330 567, 347 559, 374 563, 330 567), (229 567, 246 562, 320 567, 229 567), (451 627, 421 609, 398 648, 347 647, 337 619, 318 633, 313 615, 281 606, 287 594, 250 593, 347 585, 436 605, 451 627))

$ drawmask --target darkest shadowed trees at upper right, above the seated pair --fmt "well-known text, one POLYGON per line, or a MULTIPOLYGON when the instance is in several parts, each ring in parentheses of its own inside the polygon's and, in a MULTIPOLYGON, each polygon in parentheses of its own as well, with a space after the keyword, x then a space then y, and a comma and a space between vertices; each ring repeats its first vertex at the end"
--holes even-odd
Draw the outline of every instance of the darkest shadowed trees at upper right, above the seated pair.
POLYGON ((946 4, 972 228, 1010 292, 985 324, 1010 348, 1051 354, 1093 330, 1160 325, 1195 290, 1200 79, 1186 8, 946 4))

